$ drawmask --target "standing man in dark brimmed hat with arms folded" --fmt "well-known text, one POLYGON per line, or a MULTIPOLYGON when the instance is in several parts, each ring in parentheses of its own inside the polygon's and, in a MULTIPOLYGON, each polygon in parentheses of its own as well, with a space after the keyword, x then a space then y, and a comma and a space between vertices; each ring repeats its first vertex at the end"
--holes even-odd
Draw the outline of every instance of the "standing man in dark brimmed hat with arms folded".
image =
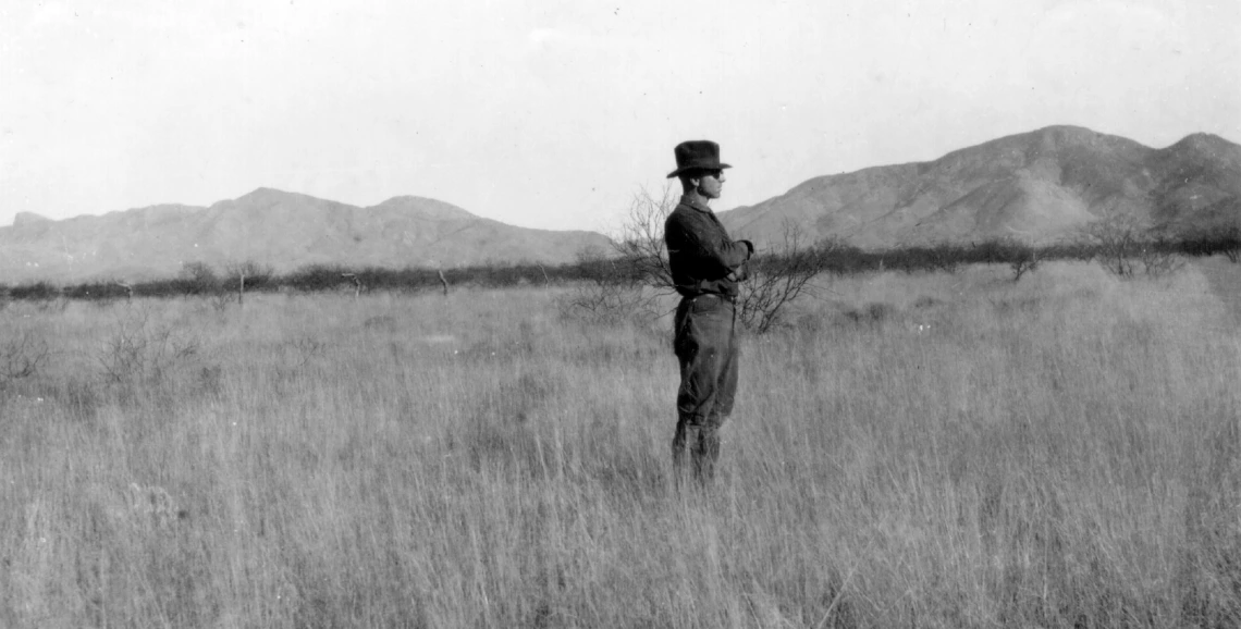
POLYGON ((681 295, 674 319, 673 347, 681 366, 676 392, 676 433, 673 468, 678 479, 686 459, 700 481, 715 474, 720 458, 720 427, 732 412, 737 391, 737 283, 753 256, 750 241, 733 241, 707 207, 720 199, 724 169, 720 145, 707 140, 681 143, 674 149, 684 195, 664 223, 664 243, 673 283, 681 295))

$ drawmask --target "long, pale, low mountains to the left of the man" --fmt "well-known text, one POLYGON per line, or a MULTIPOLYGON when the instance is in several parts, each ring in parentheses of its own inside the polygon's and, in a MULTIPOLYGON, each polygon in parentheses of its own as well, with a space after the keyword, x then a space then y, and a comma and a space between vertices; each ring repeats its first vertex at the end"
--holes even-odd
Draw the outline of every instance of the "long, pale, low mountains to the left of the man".
POLYGON ((356 207, 258 189, 210 207, 160 205, 50 221, 17 215, 0 227, 0 282, 175 275, 186 262, 254 261, 278 272, 307 264, 443 265, 570 262, 593 232, 527 230, 413 196, 356 207))

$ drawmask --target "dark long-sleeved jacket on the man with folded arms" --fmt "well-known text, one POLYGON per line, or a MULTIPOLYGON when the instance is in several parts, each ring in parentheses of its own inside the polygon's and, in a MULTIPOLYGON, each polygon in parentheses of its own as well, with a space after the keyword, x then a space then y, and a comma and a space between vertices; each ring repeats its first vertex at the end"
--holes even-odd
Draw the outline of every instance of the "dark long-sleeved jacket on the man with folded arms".
POLYGON ((704 293, 736 297, 745 279, 745 262, 753 254, 750 241, 733 241, 706 205, 681 197, 664 223, 664 243, 673 283, 684 297, 704 293))

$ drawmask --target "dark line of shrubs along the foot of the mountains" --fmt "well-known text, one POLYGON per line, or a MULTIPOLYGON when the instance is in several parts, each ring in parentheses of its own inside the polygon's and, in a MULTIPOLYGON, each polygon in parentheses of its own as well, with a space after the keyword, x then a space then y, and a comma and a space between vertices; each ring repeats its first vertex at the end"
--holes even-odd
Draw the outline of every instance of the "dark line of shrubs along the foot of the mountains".
MULTIPOLYGON (((1215 233, 1189 234, 1176 238, 1153 238, 1133 244, 1138 249, 1158 251, 1168 254, 1204 257, 1225 254, 1237 262, 1241 253, 1241 233, 1227 230, 1215 233)), ((1025 261, 1090 261, 1106 257, 1106 243, 1075 242, 1034 247, 1018 241, 989 241, 970 244, 941 244, 932 247, 905 247, 897 249, 866 251, 839 242, 827 241, 813 247, 784 251, 779 254, 759 256, 753 265, 784 268, 791 263, 807 262, 810 257, 815 268, 825 273, 855 274, 875 270, 953 272, 968 264, 1020 264, 1025 261), (793 257, 800 257, 793 259, 793 257)), ((240 277, 244 274, 244 289, 251 292, 323 292, 349 287, 366 290, 439 290, 444 282, 454 287, 503 288, 527 284, 551 284, 578 280, 598 282, 611 278, 618 282, 643 277, 649 261, 634 258, 583 257, 578 262, 556 265, 508 264, 474 265, 443 270, 433 268, 351 268, 346 265, 315 264, 290 273, 277 274, 271 268, 253 263, 228 265, 216 273, 202 263, 187 264, 182 272, 169 279, 122 284, 114 282, 88 282, 57 287, 48 282, 19 285, 0 284, 0 295, 15 300, 50 300, 68 298, 78 300, 112 300, 127 297, 184 297, 222 295, 235 293, 240 277)))

